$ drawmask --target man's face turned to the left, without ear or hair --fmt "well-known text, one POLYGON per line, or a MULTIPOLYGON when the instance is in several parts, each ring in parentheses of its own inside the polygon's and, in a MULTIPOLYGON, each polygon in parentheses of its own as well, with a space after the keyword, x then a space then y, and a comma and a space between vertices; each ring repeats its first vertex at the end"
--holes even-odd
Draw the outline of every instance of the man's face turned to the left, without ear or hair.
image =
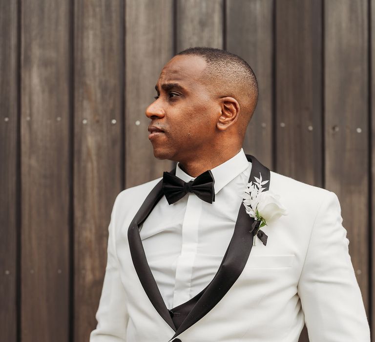
POLYGON ((178 55, 164 66, 156 100, 146 109, 156 158, 185 162, 203 157, 217 139, 221 107, 200 81, 206 65, 199 56, 178 55))

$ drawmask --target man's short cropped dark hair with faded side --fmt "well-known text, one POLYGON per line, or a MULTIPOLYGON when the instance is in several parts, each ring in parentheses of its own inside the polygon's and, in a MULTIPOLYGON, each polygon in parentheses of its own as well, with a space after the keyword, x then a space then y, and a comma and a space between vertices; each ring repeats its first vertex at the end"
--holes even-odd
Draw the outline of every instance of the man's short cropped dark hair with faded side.
POLYGON ((244 59, 229 51, 213 47, 189 47, 177 55, 202 56, 208 64, 206 74, 212 78, 220 78, 221 82, 228 85, 228 89, 234 91, 233 97, 237 100, 238 97, 243 99, 250 121, 258 102, 258 82, 250 65, 244 59))

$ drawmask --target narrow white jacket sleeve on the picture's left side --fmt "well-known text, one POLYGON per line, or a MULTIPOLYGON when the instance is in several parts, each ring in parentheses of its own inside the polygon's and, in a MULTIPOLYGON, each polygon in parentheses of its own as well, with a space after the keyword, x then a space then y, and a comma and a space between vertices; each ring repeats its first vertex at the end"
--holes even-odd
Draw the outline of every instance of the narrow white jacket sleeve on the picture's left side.
POLYGON ((98 325, 90 334, 90 342, 125 342, 128 313, 125 289, 120 279, 119 260, 115 248, 116 205, 113 205, 108 226, 107 264, 102 295, 96 312, 98 325))

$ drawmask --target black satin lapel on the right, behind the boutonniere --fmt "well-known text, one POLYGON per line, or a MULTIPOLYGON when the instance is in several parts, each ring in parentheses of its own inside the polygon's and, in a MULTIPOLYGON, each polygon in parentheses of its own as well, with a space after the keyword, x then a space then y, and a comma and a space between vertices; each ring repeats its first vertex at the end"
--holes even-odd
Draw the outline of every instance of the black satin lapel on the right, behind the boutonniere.
MULTIPOLYGON (((246 155, 246 157, 251 162, 249 182, 255 181, 254 177, 259 178, 259 173, 262 174, 263 181, 270 180, 271 172, 267 167, 262 165, 252 155, 246 155)), ((270 181, 263 187, 265 188, 264 191, 269 190, 270 181)), ((241 275, 252 248, 254 235, 249 230, 253 222, 254 218, 246 213, 245 206, 241 203, 232 238, 215 277, 208 284, 207 288, 197 295, 200 298, 187 315, 185 321, 181 323, 172 339, 187 330, 212 310, 241 275)))

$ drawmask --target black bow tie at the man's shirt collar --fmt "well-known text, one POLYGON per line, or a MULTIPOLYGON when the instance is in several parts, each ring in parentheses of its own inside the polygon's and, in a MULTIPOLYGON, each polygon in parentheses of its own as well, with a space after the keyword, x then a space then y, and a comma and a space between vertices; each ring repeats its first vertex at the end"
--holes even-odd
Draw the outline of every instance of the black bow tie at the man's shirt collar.
POLYGON ((187 192, 193 192, 203 201, 212 203, 215 200, 214 183, 213 175, 209 170, 187 183, 170 172, 163 173, 163 192, 168 204, 177 202, 187 192))

